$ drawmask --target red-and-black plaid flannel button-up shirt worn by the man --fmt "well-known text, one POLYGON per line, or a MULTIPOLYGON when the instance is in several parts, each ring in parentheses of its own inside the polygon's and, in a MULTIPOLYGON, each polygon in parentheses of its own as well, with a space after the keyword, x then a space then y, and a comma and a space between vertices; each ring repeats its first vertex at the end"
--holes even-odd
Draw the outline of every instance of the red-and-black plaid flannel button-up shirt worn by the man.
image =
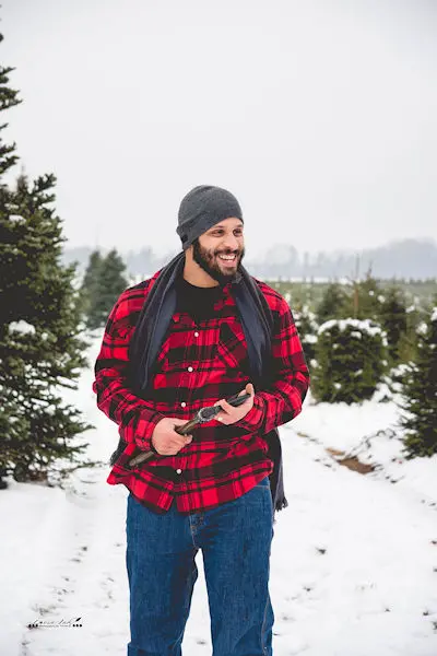
POLYGON ((107 482, 123 483, 155 512, 168 511, 175 497, 179 512, 192 513, 235 500, 271 473, 273 462, 263 435, 300 412, 309 374, 286 301, 257 280, 274 318, 274 383, 269 389, 256 389, 253 408, 237 423, 202 424, 177 455, 156 455, 128 470, 127 460, 134 452, 150 450, 153 430, 163 417, 188 421, 201 407, 240 391, 250 382, 247 343, 232 288, 226 285, 213 318, 197 325, 188 314, 174 314, 157 358, 151 398, 132 393, 126 377, 129 340, 157 274, 126 290, 114 306, 93 390, 98 408, 118 424, 127 443, 107 482))

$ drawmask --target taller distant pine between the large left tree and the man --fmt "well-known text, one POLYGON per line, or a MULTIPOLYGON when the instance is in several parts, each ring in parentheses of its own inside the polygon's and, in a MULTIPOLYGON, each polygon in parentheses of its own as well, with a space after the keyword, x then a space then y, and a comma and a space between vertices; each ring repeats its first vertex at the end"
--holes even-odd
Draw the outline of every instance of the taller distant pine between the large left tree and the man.
POLYGON ((125 271, 126 265, 116 249, 110 250, 102 260, 92 284, 92 304, 86 320, 90 329, 105 326, 115 302, 128 286, 125 271))

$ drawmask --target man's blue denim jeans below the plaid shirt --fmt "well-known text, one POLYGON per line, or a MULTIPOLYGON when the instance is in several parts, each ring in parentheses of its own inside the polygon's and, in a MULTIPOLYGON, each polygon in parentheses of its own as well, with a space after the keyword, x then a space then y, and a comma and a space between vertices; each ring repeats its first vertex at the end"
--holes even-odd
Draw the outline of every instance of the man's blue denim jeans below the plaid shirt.
POLYGON ((213 656, 271 656, 269 596, 273 507, 269 477, 215 508, 153 513, 128 496, 128 656, 181 656, 202 550, 213 656))

